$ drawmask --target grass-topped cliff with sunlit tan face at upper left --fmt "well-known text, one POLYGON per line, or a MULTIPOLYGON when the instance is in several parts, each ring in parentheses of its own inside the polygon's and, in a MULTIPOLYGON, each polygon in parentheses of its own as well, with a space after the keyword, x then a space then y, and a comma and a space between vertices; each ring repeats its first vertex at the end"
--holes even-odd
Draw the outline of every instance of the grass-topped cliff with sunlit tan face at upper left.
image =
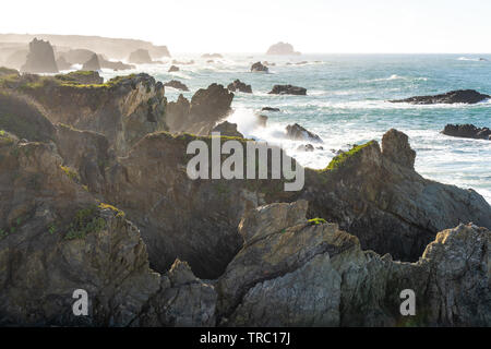
POLYGON ((52 123, 104 134, 119 156, 145 134, 167 130, 164 85, 147 74, 119 76, 101 85, 23 75, 8 87, 33 98, 52 123))

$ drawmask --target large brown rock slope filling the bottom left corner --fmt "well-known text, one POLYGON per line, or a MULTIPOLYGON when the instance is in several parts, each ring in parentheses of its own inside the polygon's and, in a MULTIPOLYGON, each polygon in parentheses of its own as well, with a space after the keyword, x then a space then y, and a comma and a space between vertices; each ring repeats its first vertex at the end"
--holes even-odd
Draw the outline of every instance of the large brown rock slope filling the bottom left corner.
POLYGON ((159 286, 137 228, 97 207, 49 144, 13 142, 0 154, 0 324, 129 325, 159 286), (76 289, 89 316, 73 315, 76 289))

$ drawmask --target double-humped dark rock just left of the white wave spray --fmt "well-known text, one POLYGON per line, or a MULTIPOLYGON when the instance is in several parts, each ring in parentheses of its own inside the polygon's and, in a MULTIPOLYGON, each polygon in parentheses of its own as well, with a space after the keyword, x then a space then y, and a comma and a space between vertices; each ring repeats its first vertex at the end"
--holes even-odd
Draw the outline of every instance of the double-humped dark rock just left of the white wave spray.
POLYGON ((218 84, 200 88, 191 103, 180 95, 177 101, 167 105, 169 131, 207 135, 218 121, 230 113, 232 99, 233 94, 218 84))

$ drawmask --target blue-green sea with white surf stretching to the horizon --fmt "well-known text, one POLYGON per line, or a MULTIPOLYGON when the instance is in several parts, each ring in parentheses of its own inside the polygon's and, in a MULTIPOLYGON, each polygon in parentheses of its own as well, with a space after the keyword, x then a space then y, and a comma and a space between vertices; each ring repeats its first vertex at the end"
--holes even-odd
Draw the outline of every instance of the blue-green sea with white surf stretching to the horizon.
MULTIPOLYGON (((212 83, 225 86, 236 79, 252 85, 253 94, 237 93, 233 115, 244 135, 280 144, 300 164, 324 168, 335 156, 333 151, 352 144, 380 141, 391 128, 407 133, 417 152, 416 169, 423 177, 462 188, 472 188, 491 203, 491 142, 455 139, 440 133, 447 123, 474 123, 491 127, 491 101, 477 105, 412 106, 391 104, 387 99, 431 95, 452 89, 472 88, 491 95, 491 56, 482 55, 303 55, 266 57, 224 55, 207 63, 199 56, 173 57, 181 71, 168 73, 165 64, 140 65, 137 71, 161 82, 179 80, 190 87, 184 96, 212 83), (486 58, 489 61, 479 60, 486 58), (251 73, 255 61, 275 63, 270 74, 251 73), (304 64, 296 62, 307 61, 304 64), (294 64, 287 64, 288 62, 294 64), (308 89, 307 96, 268 95, 275 84, 292 84, 308 89), (267 127, 252 121, 262 107, 277 107, 280 112, 262 112, 267 127), (319 134, 324 149, 297 151, 299 142, 285 139, 285 127, 299 123, 319 134)), ((104 72, 112 77, 113 72, 104 72)), ((166 88, 169 100, 180 92, 166 88)))

